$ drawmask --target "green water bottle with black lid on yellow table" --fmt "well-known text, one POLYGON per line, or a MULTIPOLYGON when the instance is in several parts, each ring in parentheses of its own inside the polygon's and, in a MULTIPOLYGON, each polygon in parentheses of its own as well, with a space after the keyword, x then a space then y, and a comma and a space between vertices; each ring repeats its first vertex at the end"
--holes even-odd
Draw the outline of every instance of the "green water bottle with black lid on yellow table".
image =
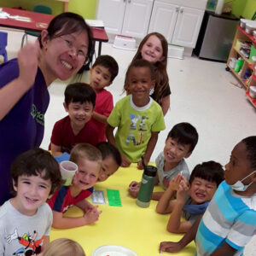
POLYGON ((151 195, 154 189, 154 179, 157 168, 155 166, 144 166, 142 183, 137 195, 137 206, 147 208, 150 205, 151 195))

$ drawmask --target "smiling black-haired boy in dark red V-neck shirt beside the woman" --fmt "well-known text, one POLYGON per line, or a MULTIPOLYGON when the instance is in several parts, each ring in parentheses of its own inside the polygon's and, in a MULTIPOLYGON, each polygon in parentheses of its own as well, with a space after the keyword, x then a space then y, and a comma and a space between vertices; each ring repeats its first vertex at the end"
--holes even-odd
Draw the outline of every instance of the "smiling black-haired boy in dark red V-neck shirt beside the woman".
POLYGON ((70 154, 77 143, 99 143, 96 125, 90 123, 95 107, 96 94, 88 84, 68 84, 63 103, 67 117, 57 121, 50 138, 51 152, 60 156, 64 152, 70 154))

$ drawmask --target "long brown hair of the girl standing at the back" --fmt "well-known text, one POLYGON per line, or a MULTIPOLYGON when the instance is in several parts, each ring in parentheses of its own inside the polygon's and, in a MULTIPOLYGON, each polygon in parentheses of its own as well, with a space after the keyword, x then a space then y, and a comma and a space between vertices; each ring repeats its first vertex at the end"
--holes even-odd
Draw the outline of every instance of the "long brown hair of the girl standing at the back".
MULTIPOLYGON (((133 57, 132 61, 140 60, 143 58, 142 56, 143 45, 148 41, 148 38, 150 38, 151 36, 155 36, 160 39, 160 43, 163 49, 162 56, 164 58, 162 59, 162 61, 157 61, 156 63, 154 63, 154 73, 155 73, 154 100, 155 102, 158 102, 161 105, 161 101, 165 96, 165 90, 169 86, 169 78, 166 72, 167 56, 168 56, 168 43, 166 41, 166 38, 159 32, 149 33, 145 38, 143 38, 143 41, 139 45, 137 49, 137 53, 133 57)), ((128 81, 125 79, 124 90, 126 90, 129 94, 127 82, 128 81)))

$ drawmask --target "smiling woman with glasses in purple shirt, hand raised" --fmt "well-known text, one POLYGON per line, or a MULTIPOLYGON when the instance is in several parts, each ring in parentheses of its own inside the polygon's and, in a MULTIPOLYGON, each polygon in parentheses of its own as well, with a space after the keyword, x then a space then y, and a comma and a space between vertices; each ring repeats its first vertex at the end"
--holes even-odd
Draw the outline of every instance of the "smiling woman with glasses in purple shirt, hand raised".
POLYGON ((10 165, 18 154, 39 147, 44 137, 47 87, 66 80, 92 50, 90 27, 73 13, 56 16, 35 44, 0 66, 0 206, 8 200, 10 165))

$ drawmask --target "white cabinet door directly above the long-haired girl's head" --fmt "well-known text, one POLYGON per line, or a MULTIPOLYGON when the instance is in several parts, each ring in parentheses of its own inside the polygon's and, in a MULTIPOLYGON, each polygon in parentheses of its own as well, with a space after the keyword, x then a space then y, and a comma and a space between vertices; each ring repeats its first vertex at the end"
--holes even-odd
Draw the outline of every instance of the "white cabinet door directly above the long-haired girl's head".
POLYGON ((171 44, 178 10, 179 7, 175 4, 154 1, 148 33, 160 32, 171 44))

